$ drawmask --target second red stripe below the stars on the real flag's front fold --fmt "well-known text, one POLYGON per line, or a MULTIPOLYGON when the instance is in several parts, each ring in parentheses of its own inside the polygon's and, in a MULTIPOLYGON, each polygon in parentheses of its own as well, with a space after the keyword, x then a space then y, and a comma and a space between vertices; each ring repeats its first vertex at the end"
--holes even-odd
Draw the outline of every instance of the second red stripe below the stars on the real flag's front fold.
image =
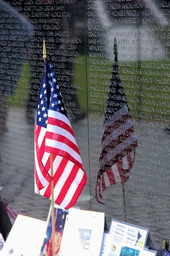
POLYGON ((69 140, 68 138, 66 138, 65 136, 62 136, 60 134, 56 134, 56 133, 50 133, 47 131, 46 133, 46 138, 47 139, 51 139, 51 140, 56 140, 59 142, 63 142, 65 143, 67 146, 69 146, 70 148, 72 148, 75 152, 77 152, 77 154, 80 155, 80 152, 77 148, 77 145, 75 145, 73 142, 71 142, 71 140, 69 140))

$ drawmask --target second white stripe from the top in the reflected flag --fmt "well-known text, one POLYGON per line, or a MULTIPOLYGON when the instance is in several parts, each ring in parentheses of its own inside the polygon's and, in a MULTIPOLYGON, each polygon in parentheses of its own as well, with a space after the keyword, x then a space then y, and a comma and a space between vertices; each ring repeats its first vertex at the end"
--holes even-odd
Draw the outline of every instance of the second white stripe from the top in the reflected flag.
POLYGON ((115 140, 117 137, 119 137, 123 133, 123 131, 126 131, 127 129, 131 128, 131 126, 133 125, 131 120, 128 120, 127 122, 125 122, 125 124, 126 124, 125 125, 126 127, 124 127, 124 128, 117 127, 116 130, 114 130, 112 133, 110 133, 108 135, 108 137, 106 137, 104 139, 104 141, 102 142, 102 145, 101 145, 101 151, 107 145, 109 145, 109 142, 111 142, 112 140, 115 140), (127 126, 128 126, 128 128, 127 128, 127 126), (120 131, 121 131, 121 133, 120 133, 120 131))

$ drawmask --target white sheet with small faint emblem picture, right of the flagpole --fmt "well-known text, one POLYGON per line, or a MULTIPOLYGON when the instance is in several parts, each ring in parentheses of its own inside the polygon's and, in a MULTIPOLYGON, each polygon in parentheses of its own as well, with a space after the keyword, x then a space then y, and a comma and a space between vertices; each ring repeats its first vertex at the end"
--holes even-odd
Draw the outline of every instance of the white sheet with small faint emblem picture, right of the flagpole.
POLYGON ((105 214, 69 209, 60 247, 60 256, 99 256, 105 214))

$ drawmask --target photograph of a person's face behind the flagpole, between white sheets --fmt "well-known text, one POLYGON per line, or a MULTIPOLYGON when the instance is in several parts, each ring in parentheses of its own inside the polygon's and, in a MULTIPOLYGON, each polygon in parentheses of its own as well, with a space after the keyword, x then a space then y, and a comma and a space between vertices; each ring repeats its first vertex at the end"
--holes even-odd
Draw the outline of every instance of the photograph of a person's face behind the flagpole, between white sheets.
MULTIPOLYGON (((69 211, 59 208, 54 208, 54 221, 55 221, 55 256, 59 255, 60 245, 62 242, 63 230, 66 221, 66 215, 69 211)), ((48 220, 47 231, 45 234, 44 242, 41 248, 40 256, 53 256, 53 244, 52 244, 52 220, 51 212, 48 220)))

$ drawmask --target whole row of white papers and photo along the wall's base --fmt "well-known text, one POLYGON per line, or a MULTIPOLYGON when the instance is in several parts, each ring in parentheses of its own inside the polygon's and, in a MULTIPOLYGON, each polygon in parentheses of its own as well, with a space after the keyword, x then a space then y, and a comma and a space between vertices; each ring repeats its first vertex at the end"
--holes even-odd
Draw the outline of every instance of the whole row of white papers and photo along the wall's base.
MULTIPOLYGON (((146 246, 148 229, 143 227, 112 219, 105 231, 105 213, 56 204, 54 216, 56 256, 156 256, 146 246)), ((53 256, 51 208, 47 222, 18 215, 0 255, 30 254, 53 256)))

